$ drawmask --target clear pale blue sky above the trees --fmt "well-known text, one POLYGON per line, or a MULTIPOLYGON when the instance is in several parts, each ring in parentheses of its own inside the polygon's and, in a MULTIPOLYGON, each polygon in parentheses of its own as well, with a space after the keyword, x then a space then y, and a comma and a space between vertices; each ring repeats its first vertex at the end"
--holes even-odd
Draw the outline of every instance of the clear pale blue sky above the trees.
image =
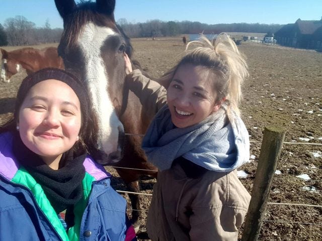
MULTIPOLYGON (((79 0, 76 0, 79 2, 79 0)), ((54 0, 0 0, 0 23, 22 15, 37 27, 46 19, 52 28, 62 28, 54 0)), ((206 24, 261 23, 289 24, 301 20, 320 20, 321 0, 116 0, 116 21, 125 18, 139 23, 198 21, 206 24), (197 3, 197 4, 196 4, 197 3)))

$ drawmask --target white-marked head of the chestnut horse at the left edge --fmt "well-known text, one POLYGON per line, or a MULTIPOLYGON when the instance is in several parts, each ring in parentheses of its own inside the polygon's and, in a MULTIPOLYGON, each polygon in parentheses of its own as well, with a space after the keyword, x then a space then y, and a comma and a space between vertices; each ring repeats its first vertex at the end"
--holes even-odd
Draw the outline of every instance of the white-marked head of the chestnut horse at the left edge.
POLYGON ((1 62, 1 80, 9 83, 10 78, 19 72, 20 65, 14 59, 11 59, 9 53, 1 49, 2 62, 1 62))

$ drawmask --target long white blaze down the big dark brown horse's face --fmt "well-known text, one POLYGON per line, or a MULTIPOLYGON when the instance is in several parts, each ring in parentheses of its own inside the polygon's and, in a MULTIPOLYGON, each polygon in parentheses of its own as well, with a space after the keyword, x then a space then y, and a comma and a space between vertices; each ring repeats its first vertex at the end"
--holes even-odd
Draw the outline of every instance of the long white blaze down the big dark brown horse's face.
POLYGON ((93 101, 94 111, 98 116, 98 146, 106 154, 117 151, 119 130, 124 132, 123 125, 119 121, 107 93, 109 81, 101 56, 101 47, 104 41, 115 34, 110 28, 98 27, 89 23, 77 40, 85 55, 86 84, 93 101))

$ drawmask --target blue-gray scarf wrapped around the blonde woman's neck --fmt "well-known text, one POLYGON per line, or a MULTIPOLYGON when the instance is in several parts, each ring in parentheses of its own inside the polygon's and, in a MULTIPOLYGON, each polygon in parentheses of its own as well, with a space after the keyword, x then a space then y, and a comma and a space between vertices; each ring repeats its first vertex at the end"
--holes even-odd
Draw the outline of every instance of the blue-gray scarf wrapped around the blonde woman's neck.
MULTIPOLYGON (((212 144, 216 140, 225 142, 225 144, 228 144, 226 149, 231 149, 229 147, 230 140, 228 140, 232 138, 233 142, 230 124, 228 129, 231 134, 228 133, 227 128, 224 132, 220 132, 226 123, 227 117, 223 107, 198 124, 186 128, 176 128, 172 123, 169 107, 165 105, 157 112, 150 124, 143 138, 142 148, 148 160, 160 171, 170 169, 172 162, 181 156, 197 165, 213 170, 211 167, 213 164, 210 166, 207 163, 205 164, 205 160, 200 160, 200 155, 196 154, 210 151, 211 155, 213 155, 218 151, 219 156, 222 156, 222 153, 220 153, 222 150, 213 150, 216 148, 213 148, 212 144), (209 143, 212 150, 208 150, 209 143)), ((226 153, 223 154, 225 155, 226 153)), ((231 156, 226 164, 230 165, 235 156, 231 156)), ((213 158, 217 159, 216 157, 211 157, 212 162, 213 158)))

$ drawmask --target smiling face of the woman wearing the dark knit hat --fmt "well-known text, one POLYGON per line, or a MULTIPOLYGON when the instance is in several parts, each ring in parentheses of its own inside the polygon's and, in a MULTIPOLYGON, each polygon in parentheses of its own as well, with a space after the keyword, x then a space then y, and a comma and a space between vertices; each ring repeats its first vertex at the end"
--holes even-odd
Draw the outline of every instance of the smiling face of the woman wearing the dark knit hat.
POLYGON ((81 104, 69 85, 49 79, 35 84, 19 111, 19 132, 28 149, 51 168, 77 141, 81 104))

